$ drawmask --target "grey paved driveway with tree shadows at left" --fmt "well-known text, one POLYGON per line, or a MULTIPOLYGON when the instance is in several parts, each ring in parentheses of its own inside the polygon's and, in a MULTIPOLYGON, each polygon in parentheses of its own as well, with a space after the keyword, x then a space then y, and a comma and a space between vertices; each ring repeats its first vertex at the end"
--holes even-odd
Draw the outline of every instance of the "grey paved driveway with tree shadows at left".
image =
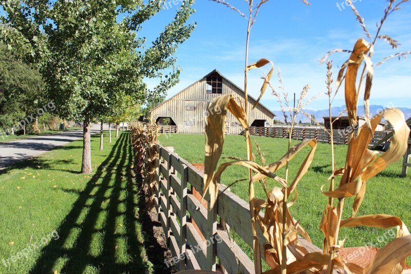
MULTIPOLYGON (((108 126, 106 125, 104 129, 108 130, 108 126)), ((99 132, 99 125, 91 125, 91 134, 99 132)), ((83 131, 65 131, 0 143, 0 170, 81 138, 83 138, 83 131)))

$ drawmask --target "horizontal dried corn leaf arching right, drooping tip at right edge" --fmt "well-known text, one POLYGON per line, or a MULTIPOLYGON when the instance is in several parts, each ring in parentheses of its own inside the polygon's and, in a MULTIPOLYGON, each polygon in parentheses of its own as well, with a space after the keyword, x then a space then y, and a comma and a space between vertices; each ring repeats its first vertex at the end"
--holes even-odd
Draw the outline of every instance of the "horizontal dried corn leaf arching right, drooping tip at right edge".
POLYGON ((408 228, 402 222, 401 218, 397 216, 391 216, 386 214, 365 215, 360 217, 348 218, 342 220, 341 227, 378 227, 378 228, 391 228, 397 227, 397 238, 409 235, 408 228))

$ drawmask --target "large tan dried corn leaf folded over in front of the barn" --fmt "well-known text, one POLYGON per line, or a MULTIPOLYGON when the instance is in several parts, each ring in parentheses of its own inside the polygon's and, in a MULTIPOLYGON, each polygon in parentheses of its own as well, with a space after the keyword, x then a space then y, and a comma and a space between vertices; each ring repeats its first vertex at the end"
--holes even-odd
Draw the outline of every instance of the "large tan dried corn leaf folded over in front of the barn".
POLYGON ((244 109, 237 104, 233 95, 222 95, 214 98, 209 109, 221 109, 220 114, 210 112, 206 120, 203 198, 209 190, 211 208, 213 208, 218 195, 218 185, 213 181, 213 177, 224 144, 227 111, 230 110, 245 129, 248 128, 248 124, 244 109))

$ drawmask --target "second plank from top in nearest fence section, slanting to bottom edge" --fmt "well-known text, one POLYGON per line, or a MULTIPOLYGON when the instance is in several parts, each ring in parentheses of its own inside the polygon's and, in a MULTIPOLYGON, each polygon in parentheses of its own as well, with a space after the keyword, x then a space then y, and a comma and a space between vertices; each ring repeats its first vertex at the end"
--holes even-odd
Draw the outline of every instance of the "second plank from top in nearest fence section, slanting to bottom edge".
POLYGON ((236 243, 231 243, 226 231, 217 230, 217 257, 228 273, 254 274, 254 263, 236 243))

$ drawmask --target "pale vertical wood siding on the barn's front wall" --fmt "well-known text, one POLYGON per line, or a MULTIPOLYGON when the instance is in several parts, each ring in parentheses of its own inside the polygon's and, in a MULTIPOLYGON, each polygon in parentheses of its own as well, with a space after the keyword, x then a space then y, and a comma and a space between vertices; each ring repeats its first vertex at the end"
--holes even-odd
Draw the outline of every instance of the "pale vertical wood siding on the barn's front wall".
MULTIPOLYGON (((241 90, 226 79, 223 78, 222 83, 222 95, 236 93, 239 96, 244 96, 244 93, 241 90)), ((179 133, 202 134, 204 133, 204 127, 206 126, 205 119, 208 104, 216 96, 219 95, 206 93, 206 79, 204 78, 154 109, 152 117, 171 117, 177 124, 179 133), (195 111, 186 111, 186 105, 194 106, 195 111), (185 121, 192 121, 195 124, 188 126, 185 125, 185 121)), ((244 103, 244 99, 241 98, 241 102, 244 103)), ((255 101, 249 98, 249 102, 248 112, 250 124, 256 119, 267 120, 270 124, 273 124, 273 114, 261 105, 258 105, 252 110, 252 105, 255 101)), ((233 122, 238 121, 231 113, 228 113, 227 124, 229 127, 229 134, 239 134, 244 130, 242 126, 232 126, 233 122)))

